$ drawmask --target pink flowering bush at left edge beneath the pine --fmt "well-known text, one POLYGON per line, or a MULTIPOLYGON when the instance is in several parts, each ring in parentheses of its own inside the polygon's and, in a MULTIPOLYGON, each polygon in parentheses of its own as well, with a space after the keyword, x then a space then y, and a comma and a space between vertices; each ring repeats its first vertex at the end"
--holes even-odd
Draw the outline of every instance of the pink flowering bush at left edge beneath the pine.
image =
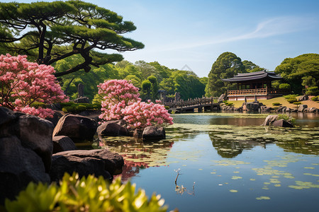
POLYGON ((67 102, 69 99, 56 82, 52 66, 29 62, 26 57, 1 54, 0 106, 42 118, 52 117, 51 109, 31 105, 34 102, 67 102))

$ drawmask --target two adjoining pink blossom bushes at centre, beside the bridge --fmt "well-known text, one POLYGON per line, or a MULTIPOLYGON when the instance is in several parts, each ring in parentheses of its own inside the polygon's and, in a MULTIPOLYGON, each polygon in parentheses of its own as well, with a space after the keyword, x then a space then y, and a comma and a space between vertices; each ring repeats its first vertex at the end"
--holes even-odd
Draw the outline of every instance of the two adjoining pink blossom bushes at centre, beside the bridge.
POLYGON ((99 94, 103 95, 102 114, 103 120, 125 119, 129 128, 144 128, 145 126, 165 126, 173 124, 173 118, 160 105, 148 100, 141 102, 138 88, 125 80, 104 81, 99 86, 99 94))

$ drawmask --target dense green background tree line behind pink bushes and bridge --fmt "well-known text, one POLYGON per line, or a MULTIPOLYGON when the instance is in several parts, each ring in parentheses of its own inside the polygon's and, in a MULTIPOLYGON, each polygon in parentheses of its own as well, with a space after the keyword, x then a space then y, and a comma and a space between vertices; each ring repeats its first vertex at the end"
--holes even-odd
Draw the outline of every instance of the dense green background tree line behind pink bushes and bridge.
MULTIPOLYGON (((55 70, 68 69, 72 64, 77 64, 81 57, 70 57, 57 61, 55 70)), ((84 85, 84 95, 90 100, 98 93, 96 87, 109 79, 125 79, 131 81, 134 86, 140 89, 140 97, 143 100, 156 100, 159 98, 159 90, 166 90, 167 95, 174 97, 176 92, 181 93, 181 98, 199 98, 205 94, 207 78, 199 78, 192 71, 181 71, 169 69, 160 65, 157 61, 147 63, 136 61, 135 64, 129 61, 120 61, 116 64, 104 64, 99 68, 92 68, 89 73, 78 71, 59 78, 62 89, 72 99, 77 98, 77 86, 84 85)))

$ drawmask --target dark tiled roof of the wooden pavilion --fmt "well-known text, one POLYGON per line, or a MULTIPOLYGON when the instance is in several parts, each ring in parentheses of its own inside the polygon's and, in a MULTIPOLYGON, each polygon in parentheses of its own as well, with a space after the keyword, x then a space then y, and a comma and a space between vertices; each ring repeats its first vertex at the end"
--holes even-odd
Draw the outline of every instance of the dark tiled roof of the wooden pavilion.
POLYGON ((222 78, 224 82, 240 82, 240 81, 255 81, 260 79, 279 80, 282 77, 276 75, 274 71, 257 71, 252 73, 237 73, 233 78, 222 78))

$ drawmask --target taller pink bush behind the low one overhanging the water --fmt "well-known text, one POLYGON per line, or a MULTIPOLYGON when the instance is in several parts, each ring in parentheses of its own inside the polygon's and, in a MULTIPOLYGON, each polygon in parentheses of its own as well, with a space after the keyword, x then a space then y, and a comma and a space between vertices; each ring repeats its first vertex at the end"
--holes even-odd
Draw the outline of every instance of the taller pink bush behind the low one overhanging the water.
POLYGON ((103 120, 123 119, 125 107, 140 101, 138 88, 130 81, 110 80, 99 84, 99 95, 102 96, 102 113, 99 116, 103 120))

